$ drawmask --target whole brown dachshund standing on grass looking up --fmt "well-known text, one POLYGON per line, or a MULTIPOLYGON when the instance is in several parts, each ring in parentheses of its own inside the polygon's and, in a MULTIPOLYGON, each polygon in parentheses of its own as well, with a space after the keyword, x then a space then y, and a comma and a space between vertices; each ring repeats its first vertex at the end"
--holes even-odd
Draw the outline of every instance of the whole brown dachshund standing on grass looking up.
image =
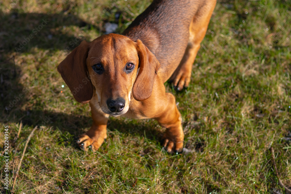
POLYGON ((93 125, 78 140, 97 150, 107 138, 108 117, 154 118, 166 128, 168 152, 183 148, 184 133, 170 78, 187 87, 216 0, 154 0, 123 32, 102 35, 75 48, 60 65, 74 98, 90 103, 93 125), (89 77, 89 79, 88 79, 89 77))

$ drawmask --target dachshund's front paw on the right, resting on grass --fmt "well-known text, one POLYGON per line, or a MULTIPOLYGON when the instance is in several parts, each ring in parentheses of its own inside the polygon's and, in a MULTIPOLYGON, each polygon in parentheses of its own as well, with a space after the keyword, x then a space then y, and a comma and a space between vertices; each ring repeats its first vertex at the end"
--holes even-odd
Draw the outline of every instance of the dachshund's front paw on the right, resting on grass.
POLYGON ((164 134, 163 146, 168 153, 180 153, 183 150, 183 140, 184 136, 173 136, 167 133, 164 134))

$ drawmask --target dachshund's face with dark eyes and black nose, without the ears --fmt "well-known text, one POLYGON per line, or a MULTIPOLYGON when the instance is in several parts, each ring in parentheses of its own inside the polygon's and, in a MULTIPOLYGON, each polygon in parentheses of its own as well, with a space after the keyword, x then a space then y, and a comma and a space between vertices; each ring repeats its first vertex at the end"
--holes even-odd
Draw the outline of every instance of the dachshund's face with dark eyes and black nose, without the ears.
POLYGON ((125 36, 101 36, 91 42, 86 60, 98 104, 110 115, 128 111, 132 87, 139 65, 136 43, 125 36))

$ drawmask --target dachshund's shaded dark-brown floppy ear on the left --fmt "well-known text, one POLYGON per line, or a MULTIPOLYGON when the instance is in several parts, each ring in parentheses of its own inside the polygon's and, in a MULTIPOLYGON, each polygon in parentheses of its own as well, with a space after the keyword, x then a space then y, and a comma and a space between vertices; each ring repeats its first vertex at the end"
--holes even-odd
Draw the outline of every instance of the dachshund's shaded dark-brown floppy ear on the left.
POLYGON ((69 86, 74 98, 83 104, 93 97, 93 85, 88 79, 86 67, 88 51, 89 43, 83 41, 58 65, 58 72, 69 86))

